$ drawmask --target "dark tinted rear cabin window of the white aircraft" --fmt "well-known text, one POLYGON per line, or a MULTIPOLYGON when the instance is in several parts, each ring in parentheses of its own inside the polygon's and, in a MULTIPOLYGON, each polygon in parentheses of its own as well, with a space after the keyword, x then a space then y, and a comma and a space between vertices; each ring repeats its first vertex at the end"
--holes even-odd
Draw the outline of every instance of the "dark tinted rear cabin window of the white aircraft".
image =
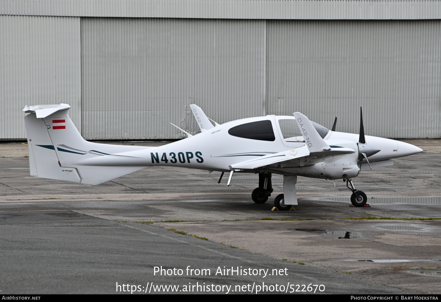
POLYGON ((269 120, 235 126, 228 130, 228 134, 250 140, 267 140, 270 142, 276 140, 273 125, 269 120))

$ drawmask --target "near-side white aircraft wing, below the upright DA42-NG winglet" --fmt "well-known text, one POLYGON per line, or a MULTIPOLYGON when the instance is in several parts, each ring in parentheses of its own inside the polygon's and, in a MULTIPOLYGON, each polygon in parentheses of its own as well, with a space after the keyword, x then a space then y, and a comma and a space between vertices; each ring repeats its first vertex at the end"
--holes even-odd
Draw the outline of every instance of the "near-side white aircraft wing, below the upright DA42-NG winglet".
POLYGON ((351 148, 329 148, 330 150, 309 152, 306 145, 295 149, 262 156, 258 159, 251 159, 231 165, 230 169, 255 170, 264 168, 288 168, 311 166, 316 162, 354 153, 351 148))

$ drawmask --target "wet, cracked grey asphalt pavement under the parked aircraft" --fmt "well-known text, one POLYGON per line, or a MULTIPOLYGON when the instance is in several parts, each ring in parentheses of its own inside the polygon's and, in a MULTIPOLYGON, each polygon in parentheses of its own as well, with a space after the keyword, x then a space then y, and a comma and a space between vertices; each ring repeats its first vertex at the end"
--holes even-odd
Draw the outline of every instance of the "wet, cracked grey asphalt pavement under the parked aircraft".
POLYGON ((227 187, 214 172, 151 167, 86 186, 31 177, 26 146, 0 144, 0 292, 439 294, 441 221, 405 219, 441 218, 441 143, 413 143, 425 153, 355 178, 370 208, 349 207, 342 182, 299 177, 295 211, 271 211, 277 176, 266 204, 250 200, 256 175, 227 187), (216 274, 224 266, 242 275, 216 274))

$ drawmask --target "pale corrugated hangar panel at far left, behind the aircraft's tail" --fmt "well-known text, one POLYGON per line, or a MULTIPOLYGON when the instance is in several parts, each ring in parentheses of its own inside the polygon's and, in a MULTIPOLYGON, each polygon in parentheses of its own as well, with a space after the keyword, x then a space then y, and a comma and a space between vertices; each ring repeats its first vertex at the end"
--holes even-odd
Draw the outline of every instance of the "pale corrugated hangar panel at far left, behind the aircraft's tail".
POLYGON ((26 105, 67 103, 81 131, 80 18, 0 15, 0 139, 26 138, 26 105))

